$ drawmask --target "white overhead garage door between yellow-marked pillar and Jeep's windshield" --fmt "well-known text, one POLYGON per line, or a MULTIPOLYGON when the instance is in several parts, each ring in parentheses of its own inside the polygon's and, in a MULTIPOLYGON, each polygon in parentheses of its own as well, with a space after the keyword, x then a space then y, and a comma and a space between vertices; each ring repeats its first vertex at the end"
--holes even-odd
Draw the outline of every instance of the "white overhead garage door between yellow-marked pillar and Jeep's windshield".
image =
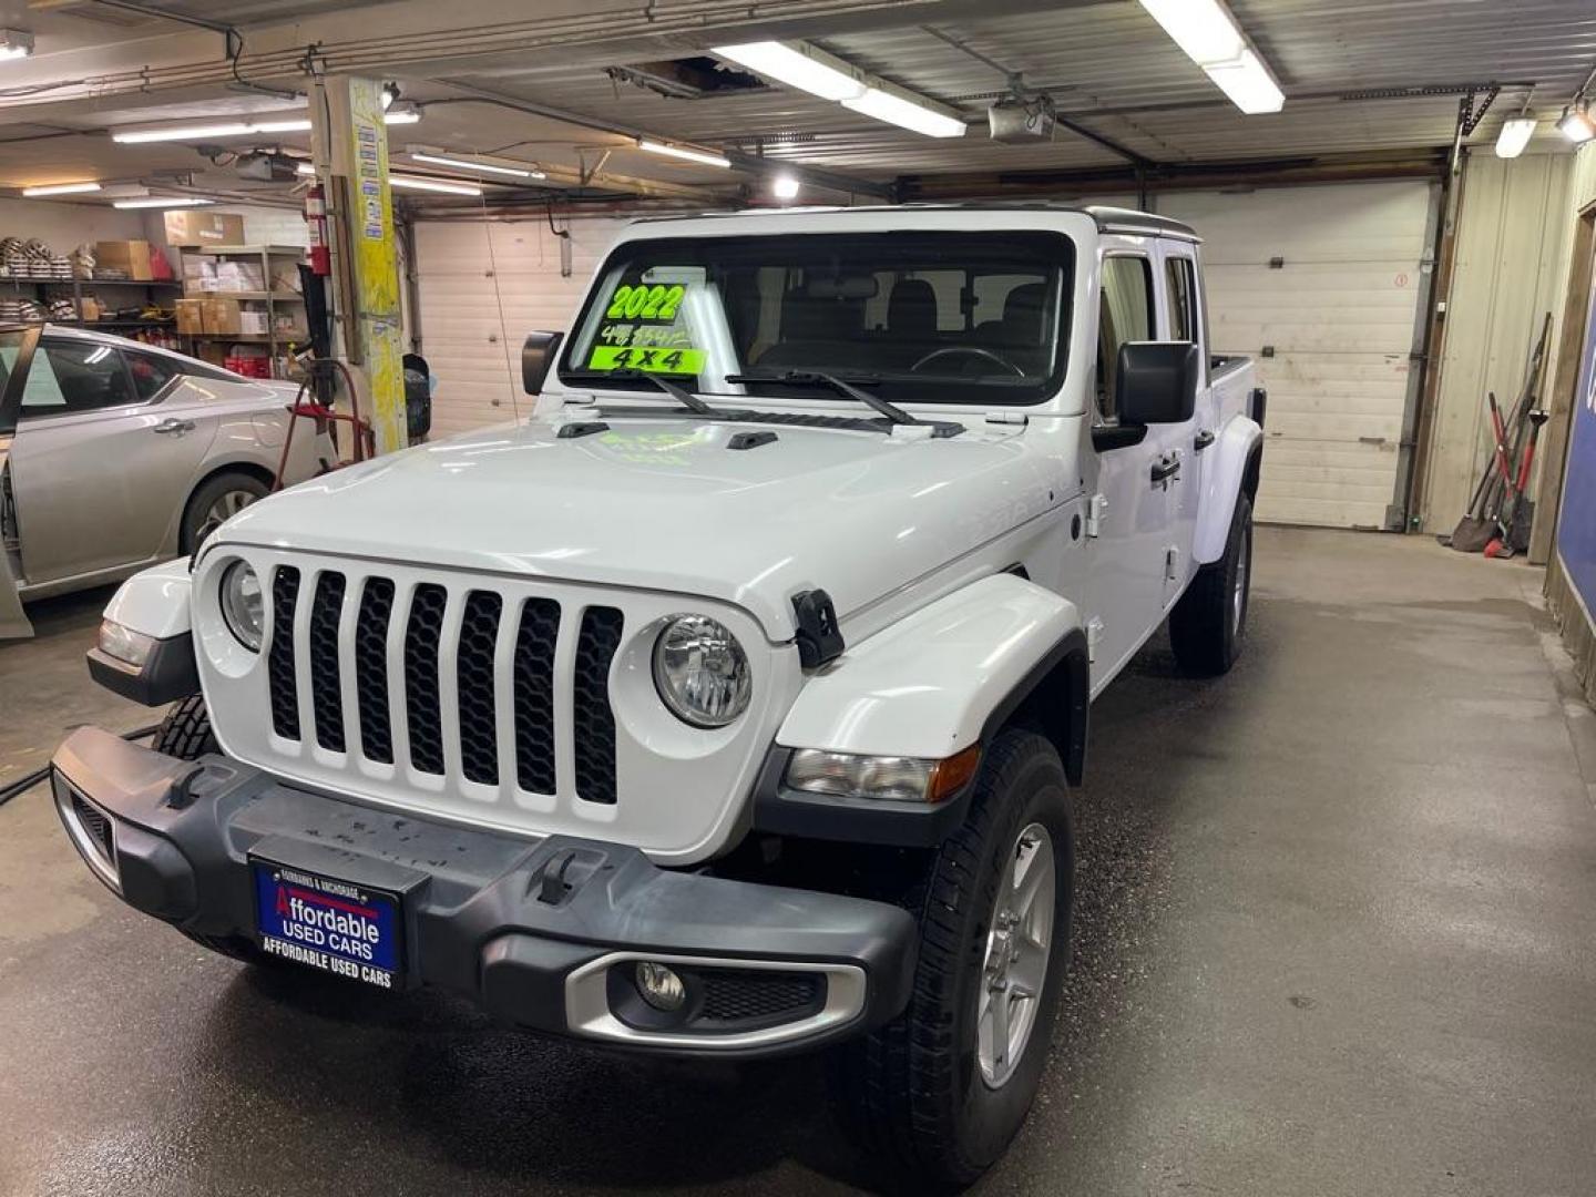
POLYGON ((421 353, 437 377, 433 434, 525 412, 520 343, 565 330, 622 220, 571 220, 570 252, 546 220, 415 227, 421 353))

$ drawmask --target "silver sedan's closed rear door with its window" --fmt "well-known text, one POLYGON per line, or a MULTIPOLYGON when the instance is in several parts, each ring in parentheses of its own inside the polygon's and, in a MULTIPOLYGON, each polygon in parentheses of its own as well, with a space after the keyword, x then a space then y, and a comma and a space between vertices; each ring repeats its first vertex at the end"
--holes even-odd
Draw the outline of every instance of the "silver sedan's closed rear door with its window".
POLYGON ((11 485, 27 586, 160 555, 215 436, 215 418, 168 404, 158 356, 45 335, 22 389, 11 485))

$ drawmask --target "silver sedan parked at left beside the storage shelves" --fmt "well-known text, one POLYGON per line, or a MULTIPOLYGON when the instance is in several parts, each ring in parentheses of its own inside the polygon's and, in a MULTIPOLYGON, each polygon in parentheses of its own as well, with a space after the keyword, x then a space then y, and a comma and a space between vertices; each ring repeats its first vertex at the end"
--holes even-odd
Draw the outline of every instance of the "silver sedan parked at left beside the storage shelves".
MULTIPOLYGON (((0 637, 22 603, 190 552, 265 495, 294 383, 70 327, 0 327, 0 637)), ((335 460, 302 423, 284 484, 335 460)))

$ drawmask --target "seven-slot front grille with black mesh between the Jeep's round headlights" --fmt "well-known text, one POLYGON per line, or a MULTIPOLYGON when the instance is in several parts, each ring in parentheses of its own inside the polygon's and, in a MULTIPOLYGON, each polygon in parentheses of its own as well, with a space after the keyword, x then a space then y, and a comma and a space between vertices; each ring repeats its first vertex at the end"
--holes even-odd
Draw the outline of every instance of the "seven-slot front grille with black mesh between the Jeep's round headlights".
POLYGON ((302 579, 287 565, 275 571, 271 587, 267 675, 281 739, 302 739, 298 699, 310 686, 313 737, 324 750, 555 795, 555 731, 563 721, 575 763, 565 784, 584 801, 616 801, 610 667, 624 630, 619 610, 335 570, 302 579), (294 618, 302 595, 310 613, 298 656, 294 618), (358 603, 350 621, 346 603, 358 603), (562 718, 555 661, 565 637, 573 642, 565 658, 571 685, 562 718), (353 709, 345 707, 348 691, 353 709))

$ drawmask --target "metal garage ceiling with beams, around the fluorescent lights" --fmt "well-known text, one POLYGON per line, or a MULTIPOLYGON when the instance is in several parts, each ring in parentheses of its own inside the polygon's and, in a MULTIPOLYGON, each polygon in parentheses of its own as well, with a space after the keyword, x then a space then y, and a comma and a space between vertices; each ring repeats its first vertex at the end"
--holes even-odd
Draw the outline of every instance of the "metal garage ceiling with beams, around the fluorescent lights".
MULTIPOLYGON (((0 21, 34 30, 38 43, 32 59, 6 64, 0 77, 0 187, 187 169, 198 171, 201 190, 286 198, 286 185, 243 184, 192 145, 123 147, 104 131, 281 107, 260 88, 303 88, 310 46, 319 65, 396 77, 405 97, 423 104, 425 120, 394 131, 396 147, 500 150, 573 171, 591 169, 608 148, 605 176, 587 188, 595 195, 626 195, 616 177, 705 188, 757 182, 642 153, 637 132, 878 185, 910 180, 922 195, 1034 172, 1065 185, 1133 158, 1179 169, 1435 152, 1451 144, 1468 86, 1500 85, 1470 139, 1484 147, 1526 101, 1555 118, 1596 62, 1596 0, 1231 0, 1231 8, 1280 78, 1280 113, 1237 112, 1136 0, 551 0, 535 18, 511 0, 0 0, 0 21), (219 32, 148 10, 236 26, 244 43, 236 78, 219 32), (956 107, 970 131, 919 137, 787 88, 667 97, 629 70, 760 37, 811 40, 956 107), (1049 93, 1079 131, 1060 128, 1036 145, 991 142, 983 115, 1005 93, 1005 72, 1049 93)), ((289 139, 284 148, 305 147, 289 139)), ((1535 148, 1562 148, 1550 120, 1535 148)))

